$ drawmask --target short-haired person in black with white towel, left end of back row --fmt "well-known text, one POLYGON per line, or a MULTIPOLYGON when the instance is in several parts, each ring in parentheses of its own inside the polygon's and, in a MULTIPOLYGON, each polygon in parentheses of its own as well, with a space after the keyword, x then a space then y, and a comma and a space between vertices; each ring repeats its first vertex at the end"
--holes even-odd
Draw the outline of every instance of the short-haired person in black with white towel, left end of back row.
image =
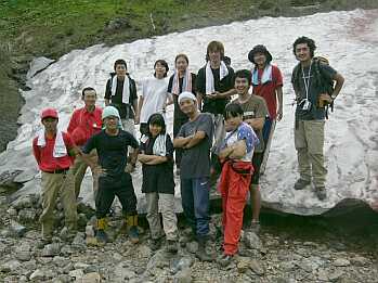
POLYGON ((106 82, 105 105, 115 106, 120 115, 123 129, 136 137, 134 118, 138 110, 138 94, 135 81, 128 74, 125 60, 114 63, 115 73, 106 82))

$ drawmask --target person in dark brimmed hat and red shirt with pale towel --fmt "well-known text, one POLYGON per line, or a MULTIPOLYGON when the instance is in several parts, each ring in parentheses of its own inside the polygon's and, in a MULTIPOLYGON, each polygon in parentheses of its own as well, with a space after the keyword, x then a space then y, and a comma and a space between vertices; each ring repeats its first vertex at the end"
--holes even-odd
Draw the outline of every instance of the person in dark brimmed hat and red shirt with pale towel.
POLYGON ((269 118, 262 129, 264 152, 260 166, 260 175, 264 173, 272 137, 276 121, 283 118, 283 76, 277 66, 271 64, 272 54, 266 47, 258 44, 248 53, 248 60, 255 64, 252 69, 253 94, 266 102, 269 118))

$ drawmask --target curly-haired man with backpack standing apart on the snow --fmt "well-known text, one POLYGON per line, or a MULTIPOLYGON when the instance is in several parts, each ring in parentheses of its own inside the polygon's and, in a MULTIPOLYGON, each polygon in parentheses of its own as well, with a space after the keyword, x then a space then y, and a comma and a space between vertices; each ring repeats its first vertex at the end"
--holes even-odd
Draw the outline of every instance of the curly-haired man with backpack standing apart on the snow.
POLYGON ((315 41, 308 37, 299 37, 292 44, 299 61, 291 76, 297 100, 295 144, 300 175, 295 189, 305 189, 312 178, 316 196, 323 201, 327 196, 323 153, 325 117, 327 105, 339 94, 344 79, 324 60, 314 57, 315 49, 315 41))

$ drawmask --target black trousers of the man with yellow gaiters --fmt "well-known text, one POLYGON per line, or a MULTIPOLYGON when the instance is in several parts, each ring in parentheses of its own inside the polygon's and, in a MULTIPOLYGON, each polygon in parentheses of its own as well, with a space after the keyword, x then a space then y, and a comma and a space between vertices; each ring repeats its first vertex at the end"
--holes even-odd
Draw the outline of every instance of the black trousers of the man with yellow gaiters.
POLYGON ((99 192, 95 200, 95 216, 104 218, 113 204, 115 196, 122 205, 123 215, 136 215, 136 196, 130 173, 122 173, 117 177, 100 177, 99 192))

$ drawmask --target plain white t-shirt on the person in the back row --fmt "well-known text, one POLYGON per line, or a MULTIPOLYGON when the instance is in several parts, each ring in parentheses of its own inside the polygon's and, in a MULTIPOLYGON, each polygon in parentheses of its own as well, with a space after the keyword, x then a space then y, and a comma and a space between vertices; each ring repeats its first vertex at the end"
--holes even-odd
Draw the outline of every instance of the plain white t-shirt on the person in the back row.
POLYGON ((142 97, 144 99, 141 110, 141 123, 147 123, 154 113, 161 113, 162 107, 170 97, 167 92, 167 78, 147 78, 142 81, 142 97))

